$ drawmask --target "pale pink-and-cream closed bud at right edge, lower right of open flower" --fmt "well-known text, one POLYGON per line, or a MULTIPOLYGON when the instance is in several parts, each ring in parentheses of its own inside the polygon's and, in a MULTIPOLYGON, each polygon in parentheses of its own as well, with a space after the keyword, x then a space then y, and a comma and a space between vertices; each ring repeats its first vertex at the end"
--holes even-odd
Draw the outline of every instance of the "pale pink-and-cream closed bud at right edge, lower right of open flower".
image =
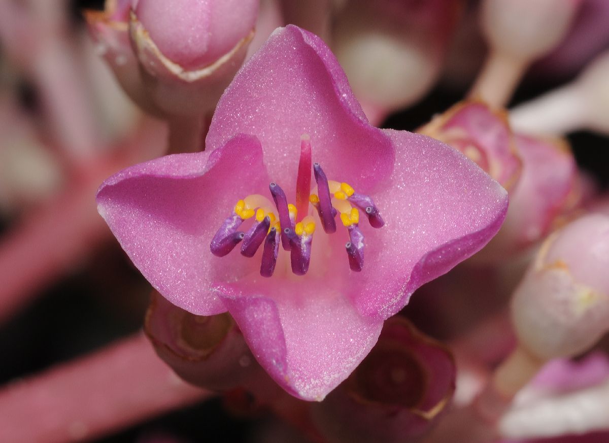
POLYGON ((512 299, 521 345, 537 358, 583 352, 609 330, 609 218, 588 215, 541 246, 512 299))

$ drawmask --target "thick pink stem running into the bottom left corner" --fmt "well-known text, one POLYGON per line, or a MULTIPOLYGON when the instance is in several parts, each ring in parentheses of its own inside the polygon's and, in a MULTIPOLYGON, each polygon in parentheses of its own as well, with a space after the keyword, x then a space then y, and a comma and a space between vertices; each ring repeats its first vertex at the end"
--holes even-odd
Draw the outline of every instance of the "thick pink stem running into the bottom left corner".
POLYGON ((143 334, 0 390, 0 439, 73 442, 128 427, 211 396, 187 385, 143 334))

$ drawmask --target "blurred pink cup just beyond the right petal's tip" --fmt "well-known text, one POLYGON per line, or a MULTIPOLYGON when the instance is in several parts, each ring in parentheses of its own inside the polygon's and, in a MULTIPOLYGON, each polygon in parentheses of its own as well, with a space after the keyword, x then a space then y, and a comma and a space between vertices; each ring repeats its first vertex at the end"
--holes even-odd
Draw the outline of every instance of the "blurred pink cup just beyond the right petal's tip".
POLYGON ((521 135, 515 141, 522 173, 510 193, 505 222, 477 259, 504 259, 523 251, 543 239, 580 200, 577 165, 566 142, 521 135))

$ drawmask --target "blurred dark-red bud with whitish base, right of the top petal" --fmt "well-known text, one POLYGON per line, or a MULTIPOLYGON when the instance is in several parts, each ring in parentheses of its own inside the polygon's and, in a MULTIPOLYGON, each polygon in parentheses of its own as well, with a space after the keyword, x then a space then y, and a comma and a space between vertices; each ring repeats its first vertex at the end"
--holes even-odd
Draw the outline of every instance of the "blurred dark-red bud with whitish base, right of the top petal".
POLYGON ((351 0, 332 48, 372 124, 420 99, 437 80, 460 4, 351 0))

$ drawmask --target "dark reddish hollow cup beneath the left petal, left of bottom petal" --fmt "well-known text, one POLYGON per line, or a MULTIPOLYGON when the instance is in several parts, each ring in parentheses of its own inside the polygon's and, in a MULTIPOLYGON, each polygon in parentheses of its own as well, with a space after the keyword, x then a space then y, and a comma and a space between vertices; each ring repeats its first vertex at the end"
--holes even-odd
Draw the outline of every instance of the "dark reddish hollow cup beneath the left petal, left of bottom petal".
POLYGON ((228 313, 194 315, 153 291, 144 329, 158 356, 193 385, 231 389, 258 372, 258 363, 228 313))

